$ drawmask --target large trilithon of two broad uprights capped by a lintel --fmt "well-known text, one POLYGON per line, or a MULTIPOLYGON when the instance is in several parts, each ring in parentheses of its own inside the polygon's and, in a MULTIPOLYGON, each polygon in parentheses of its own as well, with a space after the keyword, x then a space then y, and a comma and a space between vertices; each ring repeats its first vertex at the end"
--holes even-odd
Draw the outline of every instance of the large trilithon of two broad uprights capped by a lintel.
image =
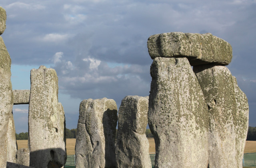
POLYGON ((150 36, 148 52, 156 167, 242 168, 249 109, 225 67, 230 44, 210 33, 171 32, 150 36))

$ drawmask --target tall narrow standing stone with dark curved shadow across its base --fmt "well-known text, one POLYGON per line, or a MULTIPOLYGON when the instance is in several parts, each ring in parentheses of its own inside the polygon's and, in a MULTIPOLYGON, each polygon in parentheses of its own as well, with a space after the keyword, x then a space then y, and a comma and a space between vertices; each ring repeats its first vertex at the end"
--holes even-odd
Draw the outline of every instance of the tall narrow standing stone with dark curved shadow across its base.
POLYGON ((56 71, 45 66, 31 70, 28 131, 30 166, 46 168, 66 162, 65 115, 58 103, 56 71))

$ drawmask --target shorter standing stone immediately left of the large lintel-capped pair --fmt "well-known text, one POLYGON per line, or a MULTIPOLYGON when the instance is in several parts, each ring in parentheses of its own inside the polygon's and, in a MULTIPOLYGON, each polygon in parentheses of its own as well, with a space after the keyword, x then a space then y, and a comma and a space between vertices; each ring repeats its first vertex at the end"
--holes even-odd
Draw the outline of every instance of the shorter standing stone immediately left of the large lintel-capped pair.
POLYGON ((148 154, 148 97, 126 96, 118 112, 117 168, 152 168, 148 154))

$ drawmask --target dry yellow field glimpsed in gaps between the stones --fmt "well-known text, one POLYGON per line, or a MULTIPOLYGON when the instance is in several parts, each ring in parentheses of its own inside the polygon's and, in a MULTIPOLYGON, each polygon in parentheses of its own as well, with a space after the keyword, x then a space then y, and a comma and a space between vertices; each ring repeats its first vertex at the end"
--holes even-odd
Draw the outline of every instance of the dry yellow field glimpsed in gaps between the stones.
MULTIPOLYGON (((155 141, 154 138, 148 138, 149 142, 149 153, 154 153, 155 151, 155 141)), ((18 149, 20 148, 28 148, 28 140, 17 140, 18 149)), ((75 145, 76 139, 67 139, 66 140, 66 148, 67 155, 75 154, 75 145)), ((246 141, 244 153, 253 153, 256 152, 256 141, 246 141)))

